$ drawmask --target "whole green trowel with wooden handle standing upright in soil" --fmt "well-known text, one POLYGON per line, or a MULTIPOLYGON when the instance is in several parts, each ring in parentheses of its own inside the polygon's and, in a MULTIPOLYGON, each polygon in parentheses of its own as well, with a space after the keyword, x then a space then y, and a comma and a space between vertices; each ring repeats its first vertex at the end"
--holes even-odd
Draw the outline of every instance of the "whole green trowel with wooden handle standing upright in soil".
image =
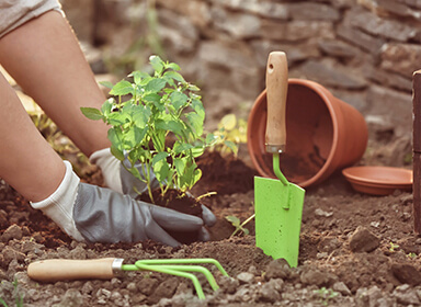
POLYGON ((280 168, 280 155, 286 146, 287 88, 286 55, 273 52, 266 66, 265 147, 273 155, 273 171, 278 180, 254 177, 255 242, 265 254, 297 266, 305 191, 288 182, 280 168))

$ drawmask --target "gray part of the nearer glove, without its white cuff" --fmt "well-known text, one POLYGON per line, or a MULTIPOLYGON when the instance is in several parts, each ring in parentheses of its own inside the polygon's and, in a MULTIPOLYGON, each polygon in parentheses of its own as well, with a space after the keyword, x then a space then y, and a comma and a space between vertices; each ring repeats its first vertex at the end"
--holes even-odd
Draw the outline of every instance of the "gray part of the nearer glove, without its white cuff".
POLYGON ((198 217, 135 201, 109 189, 80 183, 73 208, 75 224, 90 242, 137 242, 151 239, 177 247, 169 231, 197 231, 198 217))

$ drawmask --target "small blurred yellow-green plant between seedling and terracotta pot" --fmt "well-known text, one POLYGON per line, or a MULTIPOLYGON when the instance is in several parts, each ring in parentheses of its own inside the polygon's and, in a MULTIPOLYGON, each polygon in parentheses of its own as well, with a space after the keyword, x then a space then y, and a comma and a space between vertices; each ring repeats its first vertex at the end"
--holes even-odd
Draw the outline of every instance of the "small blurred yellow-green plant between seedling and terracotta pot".
POLYGON ((218 129, 210 135, 215 138, 215 144, 210 149, 219 151, 221 156, 232 152, 238 154, 238 146, 247 143, 247 122, 238 120, 235 114, 225 115, 219 124, 218 129))

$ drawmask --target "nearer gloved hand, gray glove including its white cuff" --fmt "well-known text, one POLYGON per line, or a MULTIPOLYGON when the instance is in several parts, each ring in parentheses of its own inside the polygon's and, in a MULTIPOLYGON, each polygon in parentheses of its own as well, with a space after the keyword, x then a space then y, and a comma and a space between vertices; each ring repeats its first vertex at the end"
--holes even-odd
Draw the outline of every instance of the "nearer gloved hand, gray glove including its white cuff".
POLYGON ((151 239, 172 247, 180 243, 167 231, 192 231, 207 239, 200 217, 135 201, 106 187, 81 183, 65 161, 66 174, 46 200, 31 203, 66 234, 79 241, 137 242, 151 239))

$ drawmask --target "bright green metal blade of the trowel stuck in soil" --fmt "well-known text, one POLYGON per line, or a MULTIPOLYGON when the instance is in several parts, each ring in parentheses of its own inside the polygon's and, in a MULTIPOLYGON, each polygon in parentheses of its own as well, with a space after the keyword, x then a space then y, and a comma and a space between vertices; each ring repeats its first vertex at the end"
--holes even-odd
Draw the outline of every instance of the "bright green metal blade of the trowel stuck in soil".
POLYGON ((254 177, 255 243, 293 268, 298 264, 304 194, 296 184, 254 177))

